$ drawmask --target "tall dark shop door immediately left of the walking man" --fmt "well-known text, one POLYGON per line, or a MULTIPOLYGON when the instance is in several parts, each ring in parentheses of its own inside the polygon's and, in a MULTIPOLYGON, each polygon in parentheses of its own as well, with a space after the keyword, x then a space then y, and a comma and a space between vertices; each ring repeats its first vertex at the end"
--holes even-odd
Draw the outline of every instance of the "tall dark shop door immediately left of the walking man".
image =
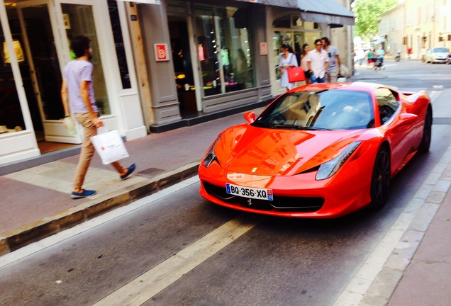
POLYGON ((65 116, 60 95, 62 73, 48 2, 18 2, 29 69, 23 72, 23 84, 26 92, 31 93, 27 95, 28 106, 38 142, 80 143, 80 135, 69 135, 62 124, 65 116))

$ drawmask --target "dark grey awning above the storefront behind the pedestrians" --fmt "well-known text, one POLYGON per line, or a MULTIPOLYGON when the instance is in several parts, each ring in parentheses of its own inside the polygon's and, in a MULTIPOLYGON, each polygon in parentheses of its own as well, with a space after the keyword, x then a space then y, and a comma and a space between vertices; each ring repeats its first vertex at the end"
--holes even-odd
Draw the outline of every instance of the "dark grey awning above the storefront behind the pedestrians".
POLYGON ((303 21, 328 23, 330 25, 354 25, 354 14, 336 0, 240 0, 281 6, 284 8, 298 8, 303 21))

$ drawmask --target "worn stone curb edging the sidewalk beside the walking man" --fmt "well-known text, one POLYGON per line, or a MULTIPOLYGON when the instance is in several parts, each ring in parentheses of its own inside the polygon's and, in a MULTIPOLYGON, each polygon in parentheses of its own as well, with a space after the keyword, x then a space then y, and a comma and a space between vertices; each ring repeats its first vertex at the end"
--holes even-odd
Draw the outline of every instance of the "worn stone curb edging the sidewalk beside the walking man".
POLYGON ((96 198, 96 200, 4 232, 0 235, 0 256, 195 176, 199 164, 200 162, 192 162, 155 176, 148 181, 136 183, 133 186, 96 198))

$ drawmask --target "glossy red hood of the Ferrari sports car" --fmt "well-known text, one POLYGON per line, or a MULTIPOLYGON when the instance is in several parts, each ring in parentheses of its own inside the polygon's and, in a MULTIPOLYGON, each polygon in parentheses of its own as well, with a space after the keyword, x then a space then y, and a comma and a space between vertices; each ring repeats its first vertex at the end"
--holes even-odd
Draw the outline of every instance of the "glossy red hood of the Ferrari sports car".
POLYGON ((301 131, 237 125, 215 147, 228 171, 262 176, 299 174, 337 157, 364 130, 301 131))

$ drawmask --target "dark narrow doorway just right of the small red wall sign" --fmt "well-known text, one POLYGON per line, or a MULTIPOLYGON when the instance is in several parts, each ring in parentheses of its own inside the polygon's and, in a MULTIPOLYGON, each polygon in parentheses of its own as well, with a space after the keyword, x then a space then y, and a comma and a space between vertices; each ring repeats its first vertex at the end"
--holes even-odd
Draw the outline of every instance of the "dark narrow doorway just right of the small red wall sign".
POLYGON ((180 114, 186 118, 198 114, 188 22, 184 16, 167 16, 167 21, 174 64, 174 86, 177 88, 180 114))

